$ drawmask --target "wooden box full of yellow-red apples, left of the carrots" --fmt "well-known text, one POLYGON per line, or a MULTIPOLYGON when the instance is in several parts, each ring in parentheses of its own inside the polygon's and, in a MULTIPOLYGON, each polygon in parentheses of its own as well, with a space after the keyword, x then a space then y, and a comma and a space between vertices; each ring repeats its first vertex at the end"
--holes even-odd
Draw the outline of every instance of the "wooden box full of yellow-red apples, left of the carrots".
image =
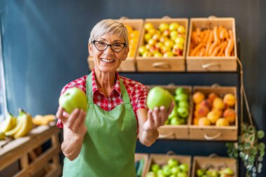
POLYGON ((146 19, 137 52, 137 70, 185 71, 187 35, 188 19, 186 18, 146 19), (162 23, 167 25, 163 27, 162 23))

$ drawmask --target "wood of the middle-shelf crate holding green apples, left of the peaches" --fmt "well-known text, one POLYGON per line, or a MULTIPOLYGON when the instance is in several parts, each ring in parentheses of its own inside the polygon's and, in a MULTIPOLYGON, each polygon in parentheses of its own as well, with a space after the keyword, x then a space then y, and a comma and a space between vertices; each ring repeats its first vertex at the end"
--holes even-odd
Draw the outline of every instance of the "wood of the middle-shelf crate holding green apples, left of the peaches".
MULTIPOLYGON (((155 86, 155 85, 153 85, 155 86)), ((148 87, 153 87, 148 86, 148 87)), ((159 127, 159 137, 158 139, 188 139, 188 123, 191 122, 192 113, 193 113, 193 100, 192 100, 192 87, 188 85, 158 85, 160 87, 168 90, 172 95, 175 94, 175 90, 179 87, 183 87, 188 91, 189 102, 190 102, 190 113, 188 115, 187 125, 163 125, 159 127)))

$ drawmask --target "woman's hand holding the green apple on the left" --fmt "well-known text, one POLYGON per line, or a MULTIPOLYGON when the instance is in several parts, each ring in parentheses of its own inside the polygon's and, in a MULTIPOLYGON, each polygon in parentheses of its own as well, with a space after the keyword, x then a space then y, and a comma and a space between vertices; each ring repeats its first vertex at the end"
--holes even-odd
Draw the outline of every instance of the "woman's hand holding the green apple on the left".
POLYGON ((87 127, 85 126, 86 113, 82 109, 76 108, 68 118, 64 117, 64 108, 58 107, 56 116, 64 124, 64 128, 71 130, 73 134, 84 136, 87 132, 87 127))

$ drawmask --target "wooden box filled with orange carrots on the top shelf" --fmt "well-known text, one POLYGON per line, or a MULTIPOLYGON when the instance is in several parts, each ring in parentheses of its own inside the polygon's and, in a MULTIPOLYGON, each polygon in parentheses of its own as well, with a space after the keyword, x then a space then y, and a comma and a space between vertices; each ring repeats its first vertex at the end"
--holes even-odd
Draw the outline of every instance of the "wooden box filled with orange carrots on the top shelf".
POLYGON ((187 71, 237 71, 235 18, 191 18, 187 71))

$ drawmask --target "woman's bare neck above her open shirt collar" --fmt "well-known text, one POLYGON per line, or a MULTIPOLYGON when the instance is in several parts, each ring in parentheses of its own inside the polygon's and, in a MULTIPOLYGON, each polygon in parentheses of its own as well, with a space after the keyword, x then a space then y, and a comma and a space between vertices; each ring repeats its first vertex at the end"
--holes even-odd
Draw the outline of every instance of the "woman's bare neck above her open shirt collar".
POLYGON ((106 97, 109 97, 113 90, 113 86, 116 83, 116 72, 102 73, 100 71, 94 70, 94 73, 99 90, 101 90, 106 97))

